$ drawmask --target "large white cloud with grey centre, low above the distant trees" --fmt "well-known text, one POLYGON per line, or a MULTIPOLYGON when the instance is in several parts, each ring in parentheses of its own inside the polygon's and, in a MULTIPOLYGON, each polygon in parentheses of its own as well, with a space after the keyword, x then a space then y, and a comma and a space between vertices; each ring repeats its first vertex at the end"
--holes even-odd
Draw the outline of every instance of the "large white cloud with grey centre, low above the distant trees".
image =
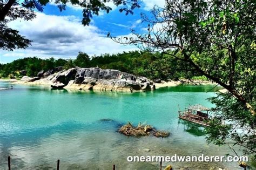
POLYGON ((14 21, 9 26, 19 30, 21 35, 33 40, 33 43, 25 50, 0 51, 1 60, 14 56, 75 58, 79 51, 92 56, 137 50, 135 46, 123 46, 113 42, 96 26, 83 26, 75 16, 37 13, 32 21, 14 21))

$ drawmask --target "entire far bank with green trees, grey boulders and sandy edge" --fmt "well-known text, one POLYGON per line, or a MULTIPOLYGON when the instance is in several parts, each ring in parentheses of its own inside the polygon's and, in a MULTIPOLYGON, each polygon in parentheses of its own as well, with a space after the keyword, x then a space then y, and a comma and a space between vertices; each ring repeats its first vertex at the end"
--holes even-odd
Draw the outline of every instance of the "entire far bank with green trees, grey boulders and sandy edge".
POLYGON ((126 92, 154 90, 180 84, 217 85, 208 81, 198 72, 182 71, 176 63, 164 62, 163 65, 161 60, 165 59, 166 56, 163 53, 149 51, 130 51, 116 55, 104 54, 91 57, 84 52, 79 52, 76 59, 27 57, 14 60, 11 63, 0 64, 0 80, 8 81, 6 78, 9 78, 15 84, 51 85, 56 89, 126 92), (95 70, 97 72, 98 68, 103 72, 105 70, 105 72, 110 71, 111 73, 103 73, 105 75, 103 78, 97 77, 97 75, 90 78, 90 73, 81 76, 81 73, 84 74, 83 69, 85 68, 94 68, 90 70, 93 74, 95 74, 95 70), (112 73, 117 71, 120 74, 124 73, 125 76, 120 78, 116 76, 116 73, 112 73), (72 75, 66 76, 65 74, 72 75), (53 84, 50 80, 53 81, 53 84))

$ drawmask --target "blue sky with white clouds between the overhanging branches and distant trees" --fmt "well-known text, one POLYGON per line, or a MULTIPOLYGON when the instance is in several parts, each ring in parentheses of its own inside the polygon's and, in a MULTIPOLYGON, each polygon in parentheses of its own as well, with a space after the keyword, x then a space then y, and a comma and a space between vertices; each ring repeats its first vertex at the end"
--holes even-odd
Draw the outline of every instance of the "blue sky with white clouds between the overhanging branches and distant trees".
POLYGON ((90 26, 83 26, 82 9, 69 5, 60 12, 54 4, 44 7, 44 12, 37 12, 32 21, 16 20, 9 23, 12 29, 17 29, 21 35, 31 39, 32 45, 25 50, 0 50, 0 63, 24 57, 37 56, 40 58, 76 58, 79 51, 89 56, 103 53, 118 53, 137 50, 135 46, 124 46, 114 43, 106 35, 129 35, 130 29, 143 33, 146 23, 142 23, 140 13, 150 14, 154 5, 164 6, 165 0, 144 0, 140 9, 134 10, 133 15, 125 16, 119 12, 119 6, 107 3, 113 10, 110 13, 100 12, 93 16, 90 26))

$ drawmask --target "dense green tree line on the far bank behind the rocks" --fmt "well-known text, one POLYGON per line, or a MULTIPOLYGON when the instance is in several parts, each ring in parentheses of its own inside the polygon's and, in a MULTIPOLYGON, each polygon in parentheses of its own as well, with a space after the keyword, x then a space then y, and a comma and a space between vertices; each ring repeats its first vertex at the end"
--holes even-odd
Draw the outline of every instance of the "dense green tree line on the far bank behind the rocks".
MULTIPOLYGON (((132 73, 136 76, 144 76, 151 79, 179 79, 192 78, 200 74, 179 70, 177 62, 163 53, 151 53, 148 51, 130 51, 118 54, 104 54, 89 57, 84 52, 79 52, 76 59, 41 59, 28 57, 14 60, 11 63, 0 64, 0 76, 2 78, 21 78, 22 76, 35 77, 41 70, 50 70, 58 66, 63 69, 72 67, 100 67, 101 69, 116 69, 132 73)), ((181 67, 183 67, 181 65, 181 67)))

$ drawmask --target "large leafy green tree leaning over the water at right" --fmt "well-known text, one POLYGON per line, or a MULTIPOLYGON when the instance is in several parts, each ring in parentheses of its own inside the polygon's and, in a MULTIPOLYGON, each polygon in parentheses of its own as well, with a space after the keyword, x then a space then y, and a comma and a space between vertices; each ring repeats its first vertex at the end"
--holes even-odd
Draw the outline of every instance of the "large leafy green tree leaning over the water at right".
MULTIPOLYGON (((234 144, 254 153, 255 136, 255 2, 166 1, 152 16, 142 15, 148 32, 116 38, 152 52, 162 51, 170 61, 191 68, 223 86, 227 92, 210 101, 217 115, 207 140, 234 144), (227 124, 221 124, 221 121, 227 124), (231 141, 229 139, 232 139, 231 141)), ((185 67, 184 67, 185 68, 185 67)))

